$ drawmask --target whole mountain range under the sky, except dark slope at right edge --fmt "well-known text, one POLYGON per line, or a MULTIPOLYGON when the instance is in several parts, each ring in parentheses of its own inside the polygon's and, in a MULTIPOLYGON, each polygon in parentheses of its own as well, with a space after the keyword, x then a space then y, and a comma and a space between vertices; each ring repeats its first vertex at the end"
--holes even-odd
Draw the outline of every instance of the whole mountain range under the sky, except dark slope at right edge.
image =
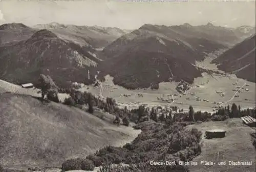
POLYGON ((110 74, 114 83, 129 89, 162 81, 191 83, 202 76, 195 61, 228 49, 252 33, 255 27, 230 29, 210 23, 145 24, 133 31, 58 23, 4 24, 0 26, 0 79, 17 84, 36 82, 42 73, 59 85, 92 83, 87 79, 88 70, 91 78, 99 70, 100 78, 110 74))

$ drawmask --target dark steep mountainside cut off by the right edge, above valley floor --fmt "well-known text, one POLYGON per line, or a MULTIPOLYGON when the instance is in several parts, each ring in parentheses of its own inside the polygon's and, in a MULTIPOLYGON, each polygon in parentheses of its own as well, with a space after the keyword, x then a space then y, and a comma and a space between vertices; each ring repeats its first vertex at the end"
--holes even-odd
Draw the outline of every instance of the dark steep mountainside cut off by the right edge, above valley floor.
POLYGON ((229 49, 212 62, 225 72, 255 82, 255 35, 229 49))

